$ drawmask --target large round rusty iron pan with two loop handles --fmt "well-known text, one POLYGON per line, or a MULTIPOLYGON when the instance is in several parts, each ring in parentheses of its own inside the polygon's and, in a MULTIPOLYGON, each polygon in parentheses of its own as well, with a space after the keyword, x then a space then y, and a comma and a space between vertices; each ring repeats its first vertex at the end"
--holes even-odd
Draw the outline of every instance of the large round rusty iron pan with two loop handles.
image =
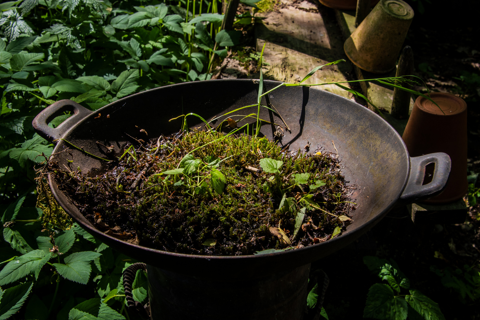
MULTIPOLYGON (((265 91, 278 82, 265 81, 265 91)), ((239 107, 257 101, 259 84, 255 80, 213 80, 169 85, 131 95, 92 112, 70 100, 61 100, 45 108, 33 121, 36 132, 49 141, 59 138, 71 142, 91 154, 115 159, 105 146, 114 146, 118 155, 126 142, 135 139, 156 138, 180 129, 181 119, 168 121, 190 112, 212 119, 239 107), (58 128, 48 122, 64 111, 73 116, 58 128), (142 131, 140 131, 142 130, 142 131)), ((318 260, 346 246, 372 228, 394 205, 427 198, 441 191, 450 172, 447 154, 408 155, 407 148, 397 132, 384 119, 359 104, 326 91, 282 86, 268 95, 269 102, 285 119, 291 133, 285 130, 281 143, 290 149, 310 150, 324 146, 326 151, 339 154, 343 174, 354 190, 352 197, 358 203, 353 210, 353 223, 341 236, 302 249, 249 256, 200 256, 166 252, 133 245, 97 230, 87 221, 50 176, 49 186, 60 205, 84 229, 114 249, 164 270, 195 274, 228 274, 235 277, 247 273, 274 273, 292 269, 318 260), (335 146, 334 146, 335 143, 335 146), (432 182, 422 186, 425 166, 435 163, 432 182)), ((263 101, 265 105, 265 101, 263 101)), ((250 107, 229 114, 256 113, 250 107)), ((226 118, 228 118, 226 117, 226 118)), ((262 108, 260 118, 282 123, 278 115, 262 108)), ((196 117, 189 117, 192 127, 203 127, 196 117), (196 121, 196 122, 195 122, 196 121)), ((252 120, 250 121, 252 123, 252 120)), ((218 122, 216 123, 218 124, 218 122)), ((240 125, 244 123, 240 122, 240 125)), ((250 126, 252 128, 252 126, 250 126)), ((273 125, 264 125, 261 133, 269 139, 276 131, 273 125)), ((81 150, 58 140, 52 156, 60 166, 80 167, 84 172, 101 170, 104 163, 81 150), (70 154, 62 152, 70 149, 70 154), (72 163, 68 160, 73 159, 72 163)))

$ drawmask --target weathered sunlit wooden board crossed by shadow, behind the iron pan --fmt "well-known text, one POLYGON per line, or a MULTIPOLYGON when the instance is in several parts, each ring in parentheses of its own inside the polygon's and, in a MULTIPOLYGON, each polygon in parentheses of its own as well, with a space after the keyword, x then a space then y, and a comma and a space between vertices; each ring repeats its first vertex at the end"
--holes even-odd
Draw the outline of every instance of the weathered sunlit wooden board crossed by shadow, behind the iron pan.
MULTIPOLYGON (((303 1, 283 1, 285 7, 278 12, 266 12, 263 24, 255 29, 257 51, 267 41, 264 50, 265 79, 287 83, 300 82, 313 68, 338 59, 347 59, 343 51, 343 36, 336 27, 335 17, 322 16, 317 7, 303 1)), ((352 72, 350 63, 326 66, 305 83, 347 81, 352 72)), ((316 88, 353 99, 347 91, 336 85, 316 88)))

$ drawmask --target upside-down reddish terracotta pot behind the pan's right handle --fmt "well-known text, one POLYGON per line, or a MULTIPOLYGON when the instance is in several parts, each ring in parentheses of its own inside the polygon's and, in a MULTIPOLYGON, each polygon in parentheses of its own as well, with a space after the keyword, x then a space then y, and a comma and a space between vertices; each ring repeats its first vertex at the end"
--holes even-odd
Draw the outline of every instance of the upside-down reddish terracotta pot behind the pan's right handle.
POLYGON ((444 152, 450 156, 452 169, 444 191, 423 201, 448 203, 462 198, 468 189, 467 104, 463 99, 447 93, 434 92, 430 97, 442 110, 419 96, 402 139, 410 156, 432 152, 444 152))

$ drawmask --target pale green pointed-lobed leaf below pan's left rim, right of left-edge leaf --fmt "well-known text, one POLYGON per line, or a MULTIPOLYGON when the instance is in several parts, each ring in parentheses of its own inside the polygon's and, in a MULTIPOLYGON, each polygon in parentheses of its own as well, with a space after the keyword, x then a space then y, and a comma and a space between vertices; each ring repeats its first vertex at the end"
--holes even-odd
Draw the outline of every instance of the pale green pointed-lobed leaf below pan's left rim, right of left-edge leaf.
POLYGON ((94 251, 75 252, 65 257, 65 264, 54 263, 53 265, 62 277, 80 284, 86 284, 92 271, 90 261, 100 255, 101 253, 94 251))

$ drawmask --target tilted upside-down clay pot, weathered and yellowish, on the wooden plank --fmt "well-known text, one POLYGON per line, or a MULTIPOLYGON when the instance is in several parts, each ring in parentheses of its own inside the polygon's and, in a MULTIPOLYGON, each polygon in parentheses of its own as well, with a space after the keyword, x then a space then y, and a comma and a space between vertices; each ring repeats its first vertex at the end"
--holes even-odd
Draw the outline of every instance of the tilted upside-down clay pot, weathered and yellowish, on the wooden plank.
POLYGON ((395 68, 413 9, 402 0, 380 0, 343 46, 360 69, 385 73, 395 68))

